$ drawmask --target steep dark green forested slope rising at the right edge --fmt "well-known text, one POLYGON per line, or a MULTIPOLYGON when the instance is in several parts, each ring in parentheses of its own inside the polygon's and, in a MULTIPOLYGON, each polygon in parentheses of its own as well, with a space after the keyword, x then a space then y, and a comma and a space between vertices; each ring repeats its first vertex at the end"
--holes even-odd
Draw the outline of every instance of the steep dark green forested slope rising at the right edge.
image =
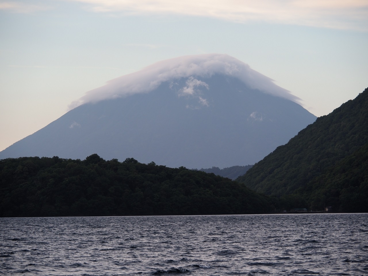
POLYGON ((256 163, 237 181, 309 208, 368 212, 368 88, 256 163), (290 196, 289 200, 290 200, 290 196))

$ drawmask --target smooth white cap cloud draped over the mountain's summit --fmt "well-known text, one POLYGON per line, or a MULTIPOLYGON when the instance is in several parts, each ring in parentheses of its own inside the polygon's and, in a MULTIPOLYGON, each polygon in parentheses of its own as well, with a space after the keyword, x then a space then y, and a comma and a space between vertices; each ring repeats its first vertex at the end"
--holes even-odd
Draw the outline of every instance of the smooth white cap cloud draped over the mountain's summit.
POLYGON ((180 78, 189 78, 187 89, 183 93, 190 94, 195 85, 208 89, 205 82, 199 81, 193 76, 211 77, 214 74, 236 77, 250 88, 258 89, 264 93, 290 99, 294 102, 300 100, 286 89, 274 84, 272 79, 251 69, 248 64, 234 57, 227 54, 202 54, 159 61, 141 71, 112 79, 106 85, 93 89, 77 101, 72 102, 69 108, 72 109, 87 102, 98 102, 135 93, 147 93, 158 88, 163 82, 180 78))

